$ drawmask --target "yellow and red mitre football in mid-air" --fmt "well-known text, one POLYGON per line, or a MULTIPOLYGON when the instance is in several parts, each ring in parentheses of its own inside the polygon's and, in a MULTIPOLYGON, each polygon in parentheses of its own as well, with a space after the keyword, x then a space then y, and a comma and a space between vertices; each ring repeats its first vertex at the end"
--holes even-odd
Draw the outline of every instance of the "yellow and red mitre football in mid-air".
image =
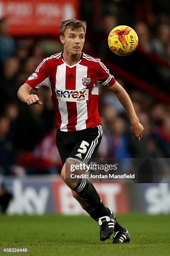
POLYGON ((138 35, 129 26, 117 26, 110 31, 108 45, 119 56, 132 54, 138 46, 138 35))

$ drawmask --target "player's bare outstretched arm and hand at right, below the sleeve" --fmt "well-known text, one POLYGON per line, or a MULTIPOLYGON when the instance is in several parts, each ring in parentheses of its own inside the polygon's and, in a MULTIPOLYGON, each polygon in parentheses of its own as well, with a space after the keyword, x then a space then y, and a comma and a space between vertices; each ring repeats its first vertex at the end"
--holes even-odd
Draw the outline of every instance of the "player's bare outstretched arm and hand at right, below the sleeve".
POLYGON ((130 100, 128 93, 117 81, 115 81, 115 84, 113 84, 112 86, 107 87, 107 89, 115 93, 117 99, 125 108, 131 123, 132 137, 133 139, 137 138, 137 140, 140 141, 144 129, 143 125, 141 125, 139 122, 138 116, 135 113, 133 103, 130 100))

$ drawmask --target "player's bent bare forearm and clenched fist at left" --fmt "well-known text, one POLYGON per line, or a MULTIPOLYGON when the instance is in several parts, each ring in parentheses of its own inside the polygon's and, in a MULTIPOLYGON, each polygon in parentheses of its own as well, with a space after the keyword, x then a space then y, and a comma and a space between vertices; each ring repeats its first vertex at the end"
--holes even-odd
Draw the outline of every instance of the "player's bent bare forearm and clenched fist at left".
POLYGON ((30 105, 30 104, 38 104, 42 105, 38 96, 36 94, 31 94, 30 92, 33 90, 29 84, 24 83, 18 90, 18 98, 20 101, 30 105))

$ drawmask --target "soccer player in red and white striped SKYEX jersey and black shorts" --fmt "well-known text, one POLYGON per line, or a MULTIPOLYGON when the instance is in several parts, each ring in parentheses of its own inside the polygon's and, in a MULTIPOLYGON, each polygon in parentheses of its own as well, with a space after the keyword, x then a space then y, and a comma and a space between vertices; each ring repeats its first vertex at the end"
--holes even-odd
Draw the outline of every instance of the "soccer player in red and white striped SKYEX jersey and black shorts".
POLYGON ((105 207, 95 187, 85 178, 77 183, 67 182, 68 161, 87 162, 95 158, 102 139, 102 125, 97 110, 98 87, 115 93, 127 111, 133 139, 140 141, 143 126, 127 92, 100 61, 82 52, 86 23, 70 19, 60 23, 60 41, 63 52, 44 59, 35 72, 18 90, 18 98, 28 105, 42 105, 32 90, 44 85, 50 88, 55 108, 56 144, 62 160, 61 177, 72 189, 72 195, 82 208, 100 225, 100 240, 115 233, 112 244, 130 242, 130 235, 105 207))

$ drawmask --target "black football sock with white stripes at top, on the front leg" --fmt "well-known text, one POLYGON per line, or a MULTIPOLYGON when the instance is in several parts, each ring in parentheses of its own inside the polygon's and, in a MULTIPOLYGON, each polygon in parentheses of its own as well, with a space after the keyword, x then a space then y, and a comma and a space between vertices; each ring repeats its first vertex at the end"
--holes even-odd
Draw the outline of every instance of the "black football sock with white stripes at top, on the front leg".
POLYGON ((92 218, 99 219, 103 216, 110 215, 110 211, 101 202, 100 196, 98 195, 95 187, 91 182, 86 182, 85 178, 82 178, 73 189, 87 204, 92 207, 93 210, 90 212, 92 218))

